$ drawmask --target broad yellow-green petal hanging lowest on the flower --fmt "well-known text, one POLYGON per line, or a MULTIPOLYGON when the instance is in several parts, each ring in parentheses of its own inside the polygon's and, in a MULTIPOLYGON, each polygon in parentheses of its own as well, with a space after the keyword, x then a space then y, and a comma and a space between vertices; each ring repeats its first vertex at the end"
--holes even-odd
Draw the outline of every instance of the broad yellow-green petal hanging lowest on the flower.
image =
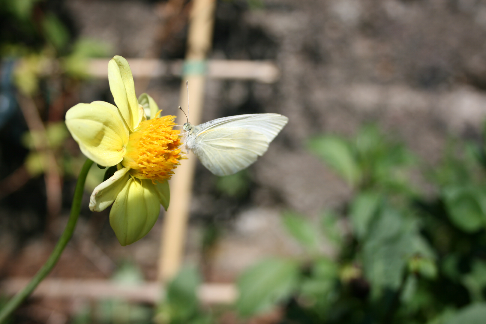
POLYGON ((150 180, 130 178, 110 211, 110 225, 122 246, 143 238, 154 226, 160 202, 150 180))

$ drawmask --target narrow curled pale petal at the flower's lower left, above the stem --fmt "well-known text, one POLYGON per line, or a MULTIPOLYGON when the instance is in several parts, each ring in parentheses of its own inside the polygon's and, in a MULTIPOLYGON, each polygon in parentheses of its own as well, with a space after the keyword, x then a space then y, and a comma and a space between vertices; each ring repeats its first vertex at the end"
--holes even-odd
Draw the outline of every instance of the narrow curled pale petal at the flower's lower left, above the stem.
POLYGON ((89 209, 91 211, 102 211, 115 201, 130 178, 130 175, 127 174, 128 170, 130 168, 116 171, 109 179, 94 188, 91 197, 89 197, 89 209))

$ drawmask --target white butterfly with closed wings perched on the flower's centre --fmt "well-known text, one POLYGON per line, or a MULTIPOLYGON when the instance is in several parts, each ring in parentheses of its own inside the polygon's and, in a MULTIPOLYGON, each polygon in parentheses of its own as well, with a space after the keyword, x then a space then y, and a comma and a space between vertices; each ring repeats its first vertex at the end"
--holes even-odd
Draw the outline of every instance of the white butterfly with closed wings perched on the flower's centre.
POLYGON ((236 173, 263 155, 289 119, 278 114, 248 114, 186 122, 185 143, 201 163, 216 175, 236 173))

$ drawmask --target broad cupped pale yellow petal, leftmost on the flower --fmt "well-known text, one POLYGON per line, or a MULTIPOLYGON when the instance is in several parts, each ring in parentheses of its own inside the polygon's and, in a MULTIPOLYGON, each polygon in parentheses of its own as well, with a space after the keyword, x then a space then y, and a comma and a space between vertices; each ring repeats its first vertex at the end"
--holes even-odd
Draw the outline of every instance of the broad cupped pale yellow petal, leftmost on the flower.
POLYGON ((129 131, 114 105, 78 103, 66 113, 66 126, 81 152, 95 163, 113 166, 123 159, 129 131))

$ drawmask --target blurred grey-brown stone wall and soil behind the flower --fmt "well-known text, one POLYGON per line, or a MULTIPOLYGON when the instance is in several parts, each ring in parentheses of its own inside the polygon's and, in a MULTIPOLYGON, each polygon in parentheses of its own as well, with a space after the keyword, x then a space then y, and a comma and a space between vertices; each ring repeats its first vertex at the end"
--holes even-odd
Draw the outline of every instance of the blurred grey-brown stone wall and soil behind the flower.
MULTIPOLYGON (((184 1, 51 2, 70 34, 100 41, 109 55, 184 58, 184 1)), ((232 282, 263 256, 299 254, 284 234, 281 211, 317 217, 352 194, 307 150, 314 135, 351 137, 361 125, 376 123, 432 166, 449 136, 479 138, 486 117, 485 39, 483 0, 218 1, 209 58, 269 60, 281 74, 274 84, 208 79, 202 120, 272 112, 289 123, 231 183, 198 164, 186 261, 203 267, 206 282, 232 282)), ((176 115, 180 80, 146 81, 135 79, 137 93, 147 91, 165 114, 176 115)), ((62 115, 77 102, 113 102, 106 79, 84 81, 76 91, 62 115)), ((23 163, 28 150, 19 138, 26 130, 19 112, 2 126, 2 178, 23 163)), ((80 154, 72 140, 67 145, 80 154)), ((415 181, 426 186, 419 175, 415 181)), ((61 216, 51 228, 44 177, 2 197, 1 277, 38 270, 64 228, 74 184, 75 178, 64 178, 61 216)), ((147 237, 121 247, 109 211, 87 209, 89 194, 74 239, 50 276, 109 278, 117 266, 134 263, 145 280, 155 280, 163 214, 147 237)))

